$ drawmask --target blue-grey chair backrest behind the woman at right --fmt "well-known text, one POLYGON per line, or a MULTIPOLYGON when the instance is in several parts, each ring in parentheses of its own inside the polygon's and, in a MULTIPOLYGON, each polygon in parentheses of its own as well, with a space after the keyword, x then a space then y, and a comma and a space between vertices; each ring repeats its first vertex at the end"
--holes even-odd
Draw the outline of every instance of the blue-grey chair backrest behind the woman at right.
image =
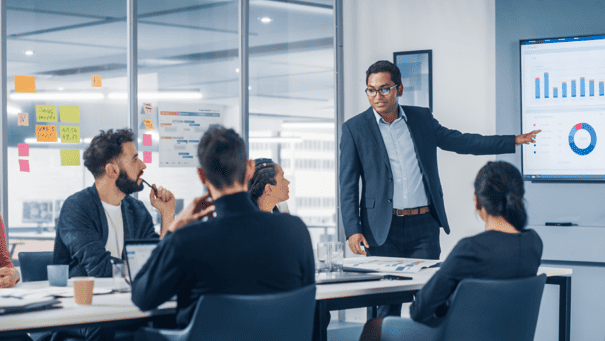
POLYGON ((545 283, 545 274, 461 281, 438 340, 533 340, 545 283))

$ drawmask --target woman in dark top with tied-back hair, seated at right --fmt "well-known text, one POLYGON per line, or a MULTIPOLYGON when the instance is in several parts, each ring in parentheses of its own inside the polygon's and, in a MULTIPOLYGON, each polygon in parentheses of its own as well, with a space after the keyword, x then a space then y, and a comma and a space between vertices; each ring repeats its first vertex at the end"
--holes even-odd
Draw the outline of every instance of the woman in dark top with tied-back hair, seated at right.
MULTIPOLYGON (((414 297, 410 328, 402 340, 430 339, 448 311, 449 298, 466 278, 507 279, 535 276, 542 258, 542 240, 525 229, 527 212, 523 203, 523 179, 507 162, 488 162, 475 179, 475 209, 485 221, 485 232, 463 238, 456 244, 439 271, 414 297), (428 327, 427 327, 428 326, 428 327)), ((368 321, 360 340, 375 340, 382 320, 368 321)))

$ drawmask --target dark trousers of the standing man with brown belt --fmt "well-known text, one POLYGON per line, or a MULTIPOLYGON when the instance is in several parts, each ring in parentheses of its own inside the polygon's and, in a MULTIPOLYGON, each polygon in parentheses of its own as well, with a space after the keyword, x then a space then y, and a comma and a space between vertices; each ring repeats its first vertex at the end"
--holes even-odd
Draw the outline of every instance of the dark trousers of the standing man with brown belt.
MULTIPOLYGON (((429 213, 393 216, 384 244, 371 246, 368 256, 439 259, 439 223, 429 213)), ((377 317, 401 316, 401 304, 378 307, 377 317)))

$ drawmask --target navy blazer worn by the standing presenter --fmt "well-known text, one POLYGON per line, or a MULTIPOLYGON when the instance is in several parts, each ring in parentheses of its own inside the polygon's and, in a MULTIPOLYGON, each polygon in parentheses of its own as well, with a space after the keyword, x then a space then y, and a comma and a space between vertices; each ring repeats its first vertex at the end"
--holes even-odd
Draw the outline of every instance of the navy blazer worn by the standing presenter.
MULTIPOLYGON (((414 141, 431 213, 446 233, 437 147, 458 154, 515 152, 515 136, 463 134, 443 127, 428 108, 401 106, 414 141)), ((393 216, 393 173, 376 116, 370 107, 347 120, 340 140, 340 206, 347 239, 362 233, 370 246, 384 244, 393 216), (361 201, 359 178, 361 177, 361 201)))

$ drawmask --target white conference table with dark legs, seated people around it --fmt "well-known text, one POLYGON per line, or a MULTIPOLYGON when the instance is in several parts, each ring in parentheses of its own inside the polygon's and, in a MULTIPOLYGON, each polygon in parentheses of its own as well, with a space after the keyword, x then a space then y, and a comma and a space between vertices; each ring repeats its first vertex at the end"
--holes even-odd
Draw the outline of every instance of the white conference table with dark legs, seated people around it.
MULTIPOLYGON (((422 288, 437 269, 425 269, 413 274, 412 280, 381 280, 317 286, 317 304, 320 313, 382 304, 411 302, 413 295, 422 288)), ((540 267, 547 284, 558 285, 559 340, 569 341, 571 307, 571 269, 540 267)), ((71 282, 71 281, 70 281, 71 282)), ((95 279, 95 288, 111 288, 113 279, 95 279)), ((47 281, 18 284, 20 289, 47 288, 47 281)), ((69 289, 69 288, 68 288, 69 289)), ((2 291, 0 290, 0 295, 2 291)), ((62 298, 61 309, 42 310, 12 315, 0 315, 0 337, 19 333, 52 331, 64 328, 90 326, 122 326, 176 314, 176 302, 169 301, 157 309, 140 311, 131 301, 130 293, 95 295, 92 305, 77 305, 73 298, 62 298)), ((374 311, 375 309, 371 309, 374 311)), ((325 330, 326 326, 320 326, 325 330)), ((325 341, 325 333, 322 341, 325 341)))

